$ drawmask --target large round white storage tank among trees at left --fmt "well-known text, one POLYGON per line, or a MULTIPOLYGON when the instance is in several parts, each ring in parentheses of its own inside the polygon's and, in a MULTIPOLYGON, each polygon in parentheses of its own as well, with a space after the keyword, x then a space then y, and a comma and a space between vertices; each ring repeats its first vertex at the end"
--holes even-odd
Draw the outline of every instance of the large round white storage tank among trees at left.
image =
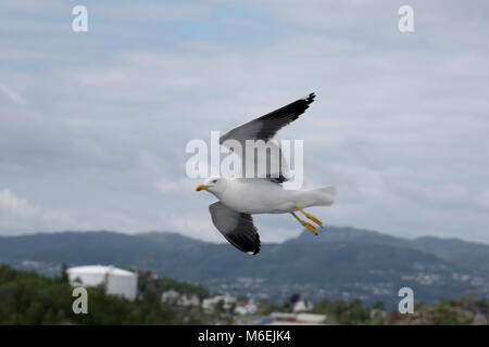
POLYGON ((72 286, 97 286, 105 284, 106 294, 120 295, 134 300, 138 291, 138 274, 113 266, 83 266, 66 270, 72 286))

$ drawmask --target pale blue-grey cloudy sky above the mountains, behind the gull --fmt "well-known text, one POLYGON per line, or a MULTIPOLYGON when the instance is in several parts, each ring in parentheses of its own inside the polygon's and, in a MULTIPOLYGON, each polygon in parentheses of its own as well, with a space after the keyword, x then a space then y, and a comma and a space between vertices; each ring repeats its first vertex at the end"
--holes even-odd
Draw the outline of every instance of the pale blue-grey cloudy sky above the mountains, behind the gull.
MULTIPOLYGON (((314 215, 489 243, 487 1, 2 1, 0 47, 1 235, 221 241, 187 142, 314 91, 279 132, 304 140, 304 188, 338 189, 314 215)), ((263 241, 301 230, 255 221, 263 241)))

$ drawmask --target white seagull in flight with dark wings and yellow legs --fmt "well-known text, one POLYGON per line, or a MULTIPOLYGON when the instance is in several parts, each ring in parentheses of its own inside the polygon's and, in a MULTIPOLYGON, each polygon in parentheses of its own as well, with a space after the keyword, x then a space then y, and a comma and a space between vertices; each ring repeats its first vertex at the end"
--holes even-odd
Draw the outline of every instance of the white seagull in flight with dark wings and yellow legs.
MULTIPOLYGON (((284 107, 275 110, 264 116, 239 126, 220 138, 220 144, 234 150, 228 140, 237 141, 242 149, 247 140, 262 140, 267 145, 277 146, 271 141, 283 127, 299 118, 315 94, 311 93, 284 107)), ((254 150, 253 150, 254 151, 254 150)), ((279 150, 280 151, 280 150, 279 150)), ((244 151, 235 154, 241 156, 242 170, 246 170, 248 156, 244 151)), ((281 156, 281 151, 279 152, 281 156)), ((256 158, 253 158, 256 163, 256 158)), ((249 165, 249 164, 248 164, 249 165)), ((253 167, 254 168, 254 167, 253 167)), ((217 230, 236 248, 255 255, 260 252, 260 235, 253 224, 252 215, 259 214, 291 214, 304 228, 317 234, 310 222, 302 220, 297 211, 323 228, 323 222, 304 208, 311 206, 328 206, 335 200, 336 190, 327 187, 316 190, 286 190, 283 184, 287 180, 287 163, 280 158, 278 171, 268 169, 263 178, 231 178, 210 177, 197 191, 208 191, 218 198, 209 206, 212 222, 217 230), (271 175, 273 174, 273 175, 271 175)))

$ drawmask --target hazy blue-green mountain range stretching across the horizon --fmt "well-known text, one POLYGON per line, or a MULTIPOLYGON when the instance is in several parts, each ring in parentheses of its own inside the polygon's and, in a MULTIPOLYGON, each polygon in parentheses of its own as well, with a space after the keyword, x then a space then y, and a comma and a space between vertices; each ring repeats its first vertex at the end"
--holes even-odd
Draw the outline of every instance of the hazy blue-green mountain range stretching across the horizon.
POLYGON ((467 290, 489 297, 489 246, 460 240, 404 240, 374 231, 334 228, 315 236, 304 231, 281 244, 263 244, 249 256, 228 244, 178 233, 62 232, 0 237, 0 262, 53 273, 70 266, 112 264, 152 269, 218 292, 283 300, 293 293, 311 299, 383 300, 397 305, 398 290, 432 303, 467 290))

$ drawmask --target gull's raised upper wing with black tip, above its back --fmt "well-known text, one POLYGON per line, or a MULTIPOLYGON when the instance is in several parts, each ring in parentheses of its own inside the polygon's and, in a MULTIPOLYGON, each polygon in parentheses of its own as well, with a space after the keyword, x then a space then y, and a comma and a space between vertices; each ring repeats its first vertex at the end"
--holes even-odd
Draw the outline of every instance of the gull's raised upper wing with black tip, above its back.
MULTIPOLYGON (((314 101, 315 97, 314 93, 311 93, 305 98, 296 100, 284 107, 239 126, 220 138, 220 143, 231 151, 234 151, 234 149, 233 146, 229 146, 230 142, 228 140, 235 140, 241 145, 242 177, 244 177, 248 158, 246 156, 246 140, 262 140, 267 142, 271 150, 269 153, 266 154, 267 167, 265 168, 265 172, 258 172, 258 177, 268 178, 276 183, 281 183, 287 180, 288 163, 283 156, 281 149, 273 141, 269 143, 268 141, 273 139, 278 130, 299 118, 299 116, 309 108, 309 105, 314 101), (274 169, 272 168, 273 165, 269 163, 279 163, 279 167, 274 169)), ((253 167, 256 168, 256 157, 253 156, 253 167)), ((249 163, 248 165, 252 163, 249 163)))

